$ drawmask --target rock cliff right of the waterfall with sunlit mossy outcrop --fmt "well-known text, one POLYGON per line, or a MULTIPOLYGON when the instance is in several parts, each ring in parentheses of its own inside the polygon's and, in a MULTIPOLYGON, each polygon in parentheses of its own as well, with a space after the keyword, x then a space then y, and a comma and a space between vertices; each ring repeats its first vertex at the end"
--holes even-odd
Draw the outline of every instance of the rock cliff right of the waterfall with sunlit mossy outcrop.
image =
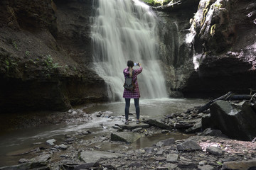
POLYGON ((171 1, 156 8, 164 11, 161 18, 169 28, 169 33, 161 32, 161 52, 168 63, 171 95, 176 91, 186 97, 216 97, 228 91, 249 94, 256 86, 255 1, 201 0, 196 10, 190 8, 195 15, 188 12, 191 2, 171 1), (183 24, 188 21, 189 30, 183 24))

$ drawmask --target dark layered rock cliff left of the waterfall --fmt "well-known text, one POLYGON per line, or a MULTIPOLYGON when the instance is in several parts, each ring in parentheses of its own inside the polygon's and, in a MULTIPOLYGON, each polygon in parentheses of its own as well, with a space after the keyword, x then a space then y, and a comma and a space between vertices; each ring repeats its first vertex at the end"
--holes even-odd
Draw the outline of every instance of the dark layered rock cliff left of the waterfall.
POLYGON ((90 69, 92 1, 0 2, 1 113, 105 101, 90 69))

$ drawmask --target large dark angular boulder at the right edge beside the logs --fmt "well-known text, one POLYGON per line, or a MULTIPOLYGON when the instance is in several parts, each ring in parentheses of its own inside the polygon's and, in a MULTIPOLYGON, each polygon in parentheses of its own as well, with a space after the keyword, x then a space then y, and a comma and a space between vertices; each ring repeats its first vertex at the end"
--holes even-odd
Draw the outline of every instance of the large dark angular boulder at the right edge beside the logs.
POLYGON ((210 106, 210 117, 202 119, 203 128, 215 128, 237 140, 250 140, 256 136, 256 113, 250 102, 234 105, 228 101, 215 101, 210 106))

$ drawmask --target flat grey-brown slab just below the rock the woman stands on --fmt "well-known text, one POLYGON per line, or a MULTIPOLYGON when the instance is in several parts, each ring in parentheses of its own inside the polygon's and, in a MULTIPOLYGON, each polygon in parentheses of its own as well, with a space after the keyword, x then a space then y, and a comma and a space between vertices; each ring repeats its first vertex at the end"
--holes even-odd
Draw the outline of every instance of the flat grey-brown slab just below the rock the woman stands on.
POLYGON ((136 140, 139 140, 139 138, 142 137, 137 132, 114 132, 111 133, 111 140, 112 141, 120 141, 120 142, 127 142, 132 143, 136 140))

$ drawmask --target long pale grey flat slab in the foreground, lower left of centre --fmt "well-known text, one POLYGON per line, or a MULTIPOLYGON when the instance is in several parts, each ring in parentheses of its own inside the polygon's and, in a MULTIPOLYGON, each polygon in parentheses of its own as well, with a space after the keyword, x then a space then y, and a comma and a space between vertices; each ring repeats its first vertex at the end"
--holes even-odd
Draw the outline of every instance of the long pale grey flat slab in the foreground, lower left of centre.
POLYGON ((117 154, 103 151, 84 151, 80 153, 80 159, 86 163, 95 163, 101 158, 118 158, 124 157, 124 154, 117 154))

